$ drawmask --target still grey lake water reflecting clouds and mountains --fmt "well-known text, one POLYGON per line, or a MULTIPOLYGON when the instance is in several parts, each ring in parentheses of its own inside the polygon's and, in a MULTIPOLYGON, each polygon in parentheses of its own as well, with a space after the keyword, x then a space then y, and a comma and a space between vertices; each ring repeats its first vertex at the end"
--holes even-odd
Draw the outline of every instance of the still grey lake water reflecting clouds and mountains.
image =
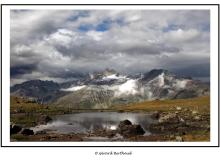
MULTIPOLYGON (((47 130, 56 133, 86 133, 96 129, 115 130, 120 121, 128 119, 132 124, 140 124, 147 132, 154 120, 150 113, 86 112, 53 117, 46 125, 33 127, 34 132, 47 130)), ((149 132, 147 132, 149 134, 149 132)))

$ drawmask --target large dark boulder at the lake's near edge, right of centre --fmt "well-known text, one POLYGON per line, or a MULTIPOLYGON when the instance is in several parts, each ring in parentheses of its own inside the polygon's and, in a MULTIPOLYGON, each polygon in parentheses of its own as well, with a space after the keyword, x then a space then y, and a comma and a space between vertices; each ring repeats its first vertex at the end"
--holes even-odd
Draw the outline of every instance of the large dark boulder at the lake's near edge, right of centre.
POLYGON ((132 124, 129 120, 121 121, 118 125, 118 133, 124 137, 133 137, 145 133, 141 125, 132 124))

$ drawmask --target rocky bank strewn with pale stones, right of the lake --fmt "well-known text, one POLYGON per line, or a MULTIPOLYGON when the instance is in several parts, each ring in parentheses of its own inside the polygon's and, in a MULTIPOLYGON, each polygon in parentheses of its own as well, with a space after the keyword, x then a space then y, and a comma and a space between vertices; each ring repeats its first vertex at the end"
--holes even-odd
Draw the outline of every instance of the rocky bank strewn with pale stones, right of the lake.
POLYGON ((175 141, 210 141, 210 114, 177 108, 173 112, 155 113, 158 123, 149 127, 152 135, 175 141))

